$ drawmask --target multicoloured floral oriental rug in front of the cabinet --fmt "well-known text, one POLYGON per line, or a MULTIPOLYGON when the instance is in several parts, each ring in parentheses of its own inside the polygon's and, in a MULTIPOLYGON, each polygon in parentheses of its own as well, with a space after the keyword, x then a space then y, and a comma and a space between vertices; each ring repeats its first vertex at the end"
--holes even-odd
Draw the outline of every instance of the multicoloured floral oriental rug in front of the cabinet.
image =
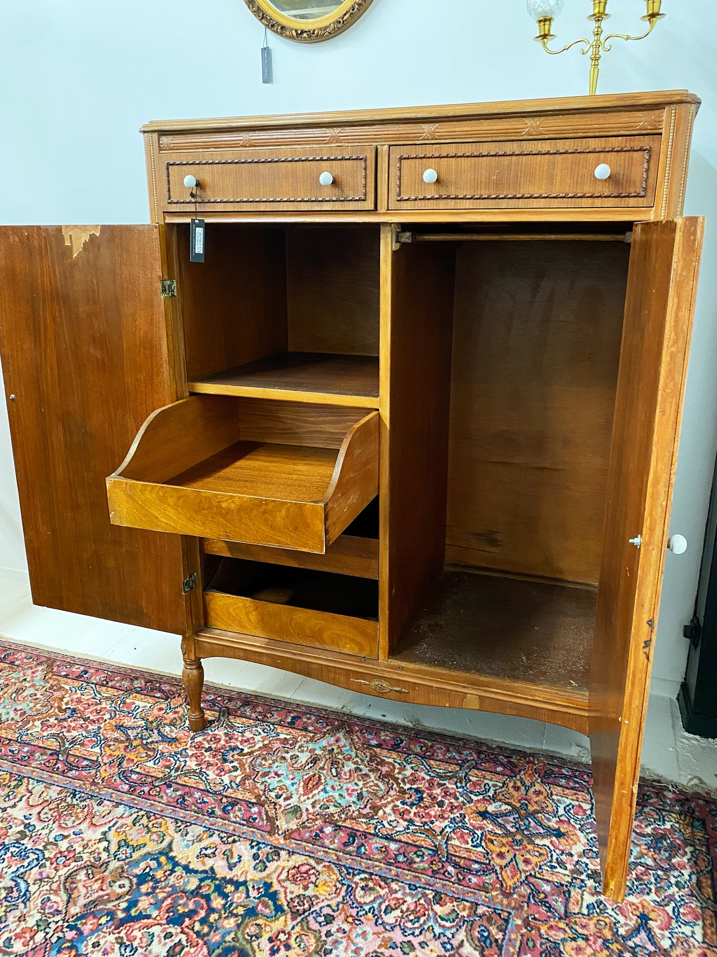
POLYGON ((0 643, 0 954, 713 957, 717 803, 645 784, 599 893, 589 768, 0 643))

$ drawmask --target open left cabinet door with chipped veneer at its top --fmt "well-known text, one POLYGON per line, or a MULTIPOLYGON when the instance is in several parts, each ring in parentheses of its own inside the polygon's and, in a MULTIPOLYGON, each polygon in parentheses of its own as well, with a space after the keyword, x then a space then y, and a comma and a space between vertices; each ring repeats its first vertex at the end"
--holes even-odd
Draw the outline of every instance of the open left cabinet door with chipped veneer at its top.
POLYGON ((0 358, 36 605, 184 634, 183 542, 104 479, 175 395, 158 226, 0 229, 0 358))

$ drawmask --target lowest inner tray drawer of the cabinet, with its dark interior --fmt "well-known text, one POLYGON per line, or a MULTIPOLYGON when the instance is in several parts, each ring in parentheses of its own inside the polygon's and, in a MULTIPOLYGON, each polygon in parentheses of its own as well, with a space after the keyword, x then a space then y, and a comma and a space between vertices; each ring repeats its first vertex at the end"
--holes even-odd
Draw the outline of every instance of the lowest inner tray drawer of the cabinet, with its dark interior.
POLYGON ((377 657, 379 584, 223 559, 204 592, 208 628, 377 657))

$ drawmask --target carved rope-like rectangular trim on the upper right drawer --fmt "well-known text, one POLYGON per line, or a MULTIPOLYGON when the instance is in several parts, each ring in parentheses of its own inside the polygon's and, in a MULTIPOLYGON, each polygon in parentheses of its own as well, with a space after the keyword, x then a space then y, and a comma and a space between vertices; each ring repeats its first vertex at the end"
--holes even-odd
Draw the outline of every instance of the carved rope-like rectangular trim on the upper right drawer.
POLYGON ((396 200, 401 203, 415 203, 445 199, 640 199, 647 195, 647 175, 652 156, 651 146, 591 146, 588 149, 520 149, 485 150, 469 153, 400 153, 396 167, 396 200), (514 192, 514 193, 433 193, 403 196, 402 166, 403 160, 462 160, 462 159, 507 159, 514 156, 569 156, 601 155, 603 153, 643 153, 641 188, 631 192, 514 192))

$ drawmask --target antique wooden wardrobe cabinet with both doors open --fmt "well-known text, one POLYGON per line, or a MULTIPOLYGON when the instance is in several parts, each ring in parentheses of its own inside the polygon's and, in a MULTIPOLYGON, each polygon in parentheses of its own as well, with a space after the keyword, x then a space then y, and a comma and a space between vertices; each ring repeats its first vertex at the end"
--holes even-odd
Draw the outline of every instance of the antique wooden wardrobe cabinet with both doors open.
POLYGON ((620 899, 698 102, 151 123, 154 225, 0 231, 34 600, 181 634, 195 731, 225 656, 589 734, 620 899))

